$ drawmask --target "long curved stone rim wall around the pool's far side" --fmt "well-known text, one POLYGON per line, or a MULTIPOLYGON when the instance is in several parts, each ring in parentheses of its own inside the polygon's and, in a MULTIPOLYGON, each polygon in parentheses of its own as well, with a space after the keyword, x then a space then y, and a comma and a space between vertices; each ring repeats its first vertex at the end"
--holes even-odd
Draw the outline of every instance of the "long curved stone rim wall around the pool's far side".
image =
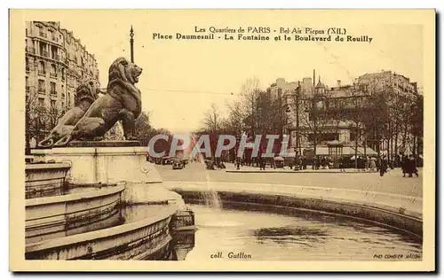
POLYGON ((204 200, 216 191, 222 203, 242 203, 278 208, 305 209, 378 222, 387 227, 423 236, 422 198, 374 191, 289 186, 258 183, 166 182, 186 203, 204 200))

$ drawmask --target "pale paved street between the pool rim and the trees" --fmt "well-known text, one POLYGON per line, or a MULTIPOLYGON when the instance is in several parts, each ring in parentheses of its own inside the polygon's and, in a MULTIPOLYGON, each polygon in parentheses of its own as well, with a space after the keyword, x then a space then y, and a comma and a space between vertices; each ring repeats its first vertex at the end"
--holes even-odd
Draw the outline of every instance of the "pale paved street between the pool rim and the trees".
POLYGON ((380 177, 378 173, 227 173, 224 170, 205 170, 204 166, 199 163, 189 163, 180 170, 172 170, 171 166, 156 165, 155 167, 162 175, 163 181, 279 183, 423 196, 421 168, 418 178, 403 178, 400 168, 391 170, 384 177, 380 177))

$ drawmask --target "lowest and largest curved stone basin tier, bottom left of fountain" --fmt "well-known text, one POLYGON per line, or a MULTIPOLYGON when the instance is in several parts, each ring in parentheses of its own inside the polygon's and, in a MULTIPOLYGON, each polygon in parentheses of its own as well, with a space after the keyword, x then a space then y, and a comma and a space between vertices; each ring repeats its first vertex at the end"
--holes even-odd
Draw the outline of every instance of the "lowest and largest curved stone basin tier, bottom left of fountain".
POLYGON ((153 215, 136 222, 29 244, 26 245, 26 259, 162 259, 169 248, 170 219, 176 211, 176 206, 163 206, 153 215))

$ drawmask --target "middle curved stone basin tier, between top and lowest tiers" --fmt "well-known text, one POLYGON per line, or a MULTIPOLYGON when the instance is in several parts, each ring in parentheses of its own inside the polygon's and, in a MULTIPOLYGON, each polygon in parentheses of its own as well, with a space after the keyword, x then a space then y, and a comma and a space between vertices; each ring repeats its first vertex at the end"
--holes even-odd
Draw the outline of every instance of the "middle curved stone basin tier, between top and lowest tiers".
POLYGON ((124 186, 26 200, 26 243, 111 227, 121 221, 124 186))

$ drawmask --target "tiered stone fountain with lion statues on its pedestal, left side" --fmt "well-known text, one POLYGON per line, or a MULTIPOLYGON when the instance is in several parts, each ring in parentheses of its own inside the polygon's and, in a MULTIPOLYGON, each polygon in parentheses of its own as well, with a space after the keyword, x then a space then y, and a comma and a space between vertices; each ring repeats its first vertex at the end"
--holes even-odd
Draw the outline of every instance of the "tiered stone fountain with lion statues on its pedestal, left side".
MULTIPOLYGON (((88 110, 68 111, 31 152, 40 163, 26 168, 27 260, 183 260, 193 248, 194 213, 134 140, 140 73, 117 58, 107 93, 88 110), (103 113, 111 106, 122 108, 103 113), (115 121, 127 140, 100 140, 115 121)), ((85 96, 94 97, 83 93, 75 104, 85 96)))

